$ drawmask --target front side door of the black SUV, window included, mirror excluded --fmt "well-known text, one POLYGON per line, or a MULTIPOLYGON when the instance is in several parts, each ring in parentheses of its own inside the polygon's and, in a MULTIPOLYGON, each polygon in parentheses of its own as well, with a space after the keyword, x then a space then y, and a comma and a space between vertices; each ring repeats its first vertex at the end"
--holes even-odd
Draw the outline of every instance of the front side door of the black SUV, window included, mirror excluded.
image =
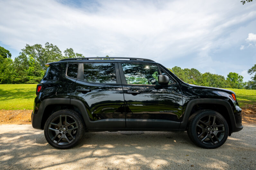
POLYGON ((171 78, 158 83, 166 74, 154 64, 119 63, 126 112, 126 128, 178 129, 182 115, 182 93, 171 78))

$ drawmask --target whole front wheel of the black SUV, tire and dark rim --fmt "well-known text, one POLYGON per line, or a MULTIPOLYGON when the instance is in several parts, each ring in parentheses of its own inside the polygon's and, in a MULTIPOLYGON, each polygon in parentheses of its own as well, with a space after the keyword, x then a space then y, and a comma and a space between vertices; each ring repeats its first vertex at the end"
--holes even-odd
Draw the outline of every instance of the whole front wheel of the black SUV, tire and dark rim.
POLYGON ((201 148, 220 147, 226 142, 228 133, 226 119, 214 110, 199 110, 188 119, 187 134, 201 148))

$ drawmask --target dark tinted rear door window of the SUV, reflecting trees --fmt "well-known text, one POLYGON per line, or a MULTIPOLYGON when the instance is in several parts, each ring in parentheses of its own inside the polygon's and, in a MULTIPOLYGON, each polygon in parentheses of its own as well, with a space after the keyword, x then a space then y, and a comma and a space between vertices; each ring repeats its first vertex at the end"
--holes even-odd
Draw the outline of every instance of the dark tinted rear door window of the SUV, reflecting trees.
POLYGON ((84 63, 84 80, 93 83, 116 83, 114 63, 84 63))

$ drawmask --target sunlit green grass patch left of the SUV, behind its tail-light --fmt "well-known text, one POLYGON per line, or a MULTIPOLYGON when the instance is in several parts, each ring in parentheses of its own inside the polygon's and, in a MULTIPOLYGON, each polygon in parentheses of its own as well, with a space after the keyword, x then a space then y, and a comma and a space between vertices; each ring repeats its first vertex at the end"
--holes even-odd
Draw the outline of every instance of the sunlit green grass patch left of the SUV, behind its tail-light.
POLYGON ((33 109, 36 84, 0 85, 0 110, 33 109))

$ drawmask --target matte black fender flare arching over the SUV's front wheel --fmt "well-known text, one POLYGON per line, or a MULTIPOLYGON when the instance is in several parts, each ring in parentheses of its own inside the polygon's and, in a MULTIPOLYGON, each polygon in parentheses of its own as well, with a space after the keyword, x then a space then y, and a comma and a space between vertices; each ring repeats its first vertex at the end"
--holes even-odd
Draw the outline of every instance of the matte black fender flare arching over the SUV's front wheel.
POLYGON ((193 99, 187 103, 187 107, 184 112, 184 117, 183 117, 182 122, 180 123, 179 129, 186 130, 188 118, 190 117, 191 110, 196 104, 220 104, 220 105, 225 106, 228 111, 229 118, 230 118, 230 123, 231 123, 230 131, 238 132, 243 128, 242 124, 240 124, 240 125, 236 124, 232 107, 228 101, 223 100, 223 99, 204 98, 204 99, 193 99))

